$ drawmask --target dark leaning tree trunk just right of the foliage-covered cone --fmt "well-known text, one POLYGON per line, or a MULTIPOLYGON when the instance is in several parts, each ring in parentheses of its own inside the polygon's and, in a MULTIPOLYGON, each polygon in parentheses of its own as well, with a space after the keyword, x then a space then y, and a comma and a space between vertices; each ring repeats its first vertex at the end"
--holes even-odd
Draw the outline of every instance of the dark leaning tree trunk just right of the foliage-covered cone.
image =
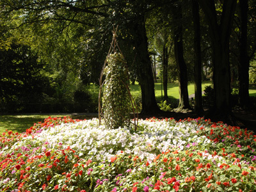
POLYGON ((155 97, 154 78, 148 54, 148 39, 144 15, 138 15, 132 28, 132 37, 134 38, 133 43, 136 51, 136 63, 138 63, 138 82, 141 87, 141 113, 153 114, 159 112, 160 109, 157 106, 155 97))

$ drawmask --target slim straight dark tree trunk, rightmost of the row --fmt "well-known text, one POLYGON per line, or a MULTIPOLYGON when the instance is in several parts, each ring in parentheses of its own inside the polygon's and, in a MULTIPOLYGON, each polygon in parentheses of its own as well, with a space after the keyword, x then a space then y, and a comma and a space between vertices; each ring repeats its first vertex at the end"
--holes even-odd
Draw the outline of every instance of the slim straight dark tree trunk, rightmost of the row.
POLYGON ((239 8, 241 13, 240 58, 239 58, 239 65, 238 65, 239 104, 242 108, 248 108, 250 106, 250 96, 249 96, 250 61, 249 61, 248 52, 247 52, 248 0, 240 0, 239 8))

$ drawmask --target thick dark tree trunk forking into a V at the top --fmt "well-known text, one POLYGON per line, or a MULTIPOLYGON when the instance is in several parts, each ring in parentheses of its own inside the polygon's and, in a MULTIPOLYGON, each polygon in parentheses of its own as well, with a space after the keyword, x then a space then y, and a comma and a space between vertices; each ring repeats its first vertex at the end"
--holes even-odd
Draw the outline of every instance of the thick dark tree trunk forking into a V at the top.
POLYGON ((198 0, 209 25, 214 65, 214 108, 216 118, 227 118, 230 108, 229 39, 236 9, 236 0, 223 1, 223 12, 218 24, 214 0, 198 0))

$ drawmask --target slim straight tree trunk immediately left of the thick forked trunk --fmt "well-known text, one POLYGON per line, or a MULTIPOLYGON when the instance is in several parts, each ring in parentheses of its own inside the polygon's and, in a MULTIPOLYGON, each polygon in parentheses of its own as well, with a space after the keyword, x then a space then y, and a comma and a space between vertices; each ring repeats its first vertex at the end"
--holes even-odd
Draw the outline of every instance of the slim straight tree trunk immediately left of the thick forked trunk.
POLYGON ((192 13, 194 24, 194 47, 195 47, 195 112, 201 115, 204 112, 202 105, 202 60, 201 60, 201 31, 199 5, 196 0, 192 1, 192 13))

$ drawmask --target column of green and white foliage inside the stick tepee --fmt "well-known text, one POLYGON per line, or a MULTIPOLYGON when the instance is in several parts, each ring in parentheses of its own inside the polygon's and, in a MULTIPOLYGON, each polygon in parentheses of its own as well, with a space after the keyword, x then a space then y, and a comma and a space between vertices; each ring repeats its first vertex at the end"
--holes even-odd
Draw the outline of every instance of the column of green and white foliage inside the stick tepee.
POLYGON ((130 124, 131 100, 129 76, 122 54, 109 54, 104 68, 106 79, 103 88, 102 111, 108 127, 117 129, 130 124))

